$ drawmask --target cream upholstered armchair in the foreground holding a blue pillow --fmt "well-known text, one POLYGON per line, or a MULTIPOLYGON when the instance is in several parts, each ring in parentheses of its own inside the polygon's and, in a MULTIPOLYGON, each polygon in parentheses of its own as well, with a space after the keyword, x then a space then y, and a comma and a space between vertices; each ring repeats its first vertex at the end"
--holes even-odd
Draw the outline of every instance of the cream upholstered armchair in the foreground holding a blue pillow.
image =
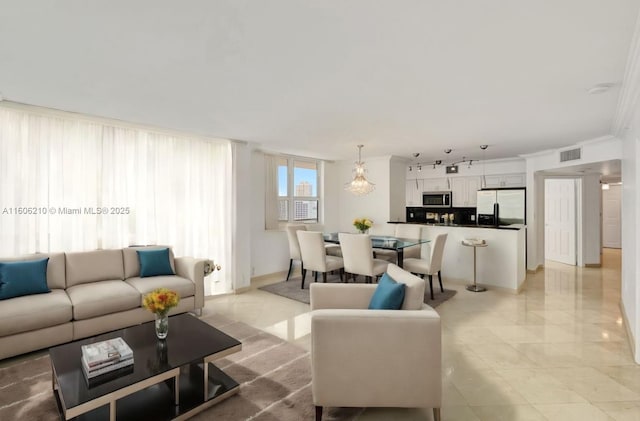
POLYGON ((442 402, 440 316, 424 280, 390 264, 405 287, 401 310, 368 310, 372 284, 311 284, 311 370, 316 421, 329 407, 433 408, 442 402))

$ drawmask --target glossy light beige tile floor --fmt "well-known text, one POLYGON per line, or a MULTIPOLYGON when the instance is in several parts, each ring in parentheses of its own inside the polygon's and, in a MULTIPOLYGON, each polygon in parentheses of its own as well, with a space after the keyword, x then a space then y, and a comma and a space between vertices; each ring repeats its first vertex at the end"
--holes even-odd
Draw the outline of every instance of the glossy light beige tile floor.
MULTIPOLYGON (((620 251, 602 268, 547 262, 526 289, 458 294, 442 317, 443 420, 637 420, 640 366, 620 313, 620 251)), ((252 289, 211 298, 218 312, 310 344, 309 306, 252 289)), ((431 420, 431 410, 368 409, 368 420, 431 420)))

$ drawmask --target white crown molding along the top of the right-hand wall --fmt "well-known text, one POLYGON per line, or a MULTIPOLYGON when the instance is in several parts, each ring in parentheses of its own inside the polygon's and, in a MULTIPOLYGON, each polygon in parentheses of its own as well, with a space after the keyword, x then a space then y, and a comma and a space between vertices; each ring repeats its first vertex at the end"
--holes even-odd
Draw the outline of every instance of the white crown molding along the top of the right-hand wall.
POLYGON ((611 124, 611 133, 614 136, 622 137, 629 127, 638 104, 638 97, 640 97, 640 13, 636 17, 633 38, 627 54, 627 66, 618 97, 618 107, 611 124))

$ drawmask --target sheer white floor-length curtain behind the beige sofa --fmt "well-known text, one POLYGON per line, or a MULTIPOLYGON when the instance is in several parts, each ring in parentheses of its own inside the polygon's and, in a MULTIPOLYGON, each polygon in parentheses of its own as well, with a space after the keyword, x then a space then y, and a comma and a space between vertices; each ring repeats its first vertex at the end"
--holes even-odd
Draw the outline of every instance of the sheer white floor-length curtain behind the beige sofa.
POLYGON ((0 256, 167 244, 229 292, 231 166, 229 141, 0 107, 0 256))

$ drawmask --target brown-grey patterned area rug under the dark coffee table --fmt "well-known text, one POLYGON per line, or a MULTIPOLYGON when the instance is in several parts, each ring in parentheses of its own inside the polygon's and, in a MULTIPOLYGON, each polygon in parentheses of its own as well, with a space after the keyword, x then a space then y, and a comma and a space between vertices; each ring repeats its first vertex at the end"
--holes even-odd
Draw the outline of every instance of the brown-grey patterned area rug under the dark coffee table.
MULTIPOLYGON (((203 317, 242 342, 242 351, 216 365, 240 383, 240 392, 196 415, 194 420, 313 420, 309 353, 280 338, 222 316, 203 317)), ((323 419, 353 420, 357 408, 327 408, 323 419)), ((3 361, 0 420, 59 420, 51 390, 51 365, 44 352, 3 361)))

